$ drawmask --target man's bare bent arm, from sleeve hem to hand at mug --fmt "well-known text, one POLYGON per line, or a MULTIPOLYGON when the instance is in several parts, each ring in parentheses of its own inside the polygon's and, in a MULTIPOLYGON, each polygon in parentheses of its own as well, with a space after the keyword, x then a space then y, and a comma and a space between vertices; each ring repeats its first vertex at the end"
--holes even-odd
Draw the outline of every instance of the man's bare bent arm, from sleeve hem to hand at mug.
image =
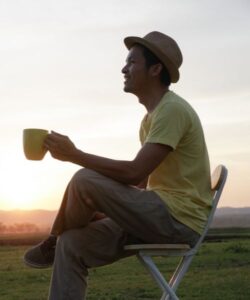
POLYGON ((163 144, 146 143, 132 161, 114 160, 83 152, 64 135, 52 132, 45 140, 51 155, 95 170, 121 183, 137 185, 163 161, 172 148, 163 144))

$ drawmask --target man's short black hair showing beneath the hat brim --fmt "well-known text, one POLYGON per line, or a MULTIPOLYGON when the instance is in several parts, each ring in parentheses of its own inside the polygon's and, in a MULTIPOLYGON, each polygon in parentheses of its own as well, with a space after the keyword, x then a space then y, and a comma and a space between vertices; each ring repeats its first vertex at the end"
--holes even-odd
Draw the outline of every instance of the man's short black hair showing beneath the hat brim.
POLYGON ((150 51, 148 48, 146 48, 145 46, 138 44, 142 50, 143 50, 143 56, 145 58, 146 61, 146 68, 149 69, 152 65, 156 65, 156 64, 161 64, 162 65, 162 70, 160 73, 160 80, 161 83, 166 85, 166 86, 170 86, 171 84, 171 78, 170 75, 168 73, 167 68, 164 66, 164 64, 159 60, 159 58, 152 52, 150 51))

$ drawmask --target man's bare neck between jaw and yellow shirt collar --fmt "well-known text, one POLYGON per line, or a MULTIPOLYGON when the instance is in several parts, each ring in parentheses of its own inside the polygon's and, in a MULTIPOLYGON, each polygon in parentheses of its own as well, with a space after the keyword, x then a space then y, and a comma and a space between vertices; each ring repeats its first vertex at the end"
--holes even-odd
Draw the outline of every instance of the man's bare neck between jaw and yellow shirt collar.
POLYGON ((151 113, 159 104, 166 92, 168 92, 168 87, 147 91, 147 93, 143 96, 138 97, 139 102, 145 106, 148 113, 151 113))

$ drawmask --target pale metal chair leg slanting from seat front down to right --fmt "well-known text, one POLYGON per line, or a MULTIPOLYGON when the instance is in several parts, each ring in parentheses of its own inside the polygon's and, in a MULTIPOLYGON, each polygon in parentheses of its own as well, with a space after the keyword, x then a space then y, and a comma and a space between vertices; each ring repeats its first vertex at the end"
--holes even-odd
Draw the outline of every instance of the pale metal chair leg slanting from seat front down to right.
POLYGON ((152 258, 150 256, 147 256, 147 255, 142 254, 142 253, 138 253, 137 258, 144 265, 146 270, 149 272, 149 274, 153 277, 155 282, 158 284, 158 286, 163 291, 161 300, 169 299, 168 295, 170 296, 171 300, 179 300, 179 298, 176 296, 174 290, 167 283, 165 278, 162 276, 161 272, 156 267, 156 265, 153 262, 152 258))

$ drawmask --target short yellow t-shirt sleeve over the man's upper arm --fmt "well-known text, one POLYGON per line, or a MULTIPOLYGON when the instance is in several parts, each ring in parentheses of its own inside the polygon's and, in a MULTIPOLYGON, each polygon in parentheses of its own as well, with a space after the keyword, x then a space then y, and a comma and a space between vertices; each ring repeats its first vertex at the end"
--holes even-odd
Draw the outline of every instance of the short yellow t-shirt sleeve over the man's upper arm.
POLYGON ((188 113, 183 106, 166 103, 153 116, 145 143, 159 143, 176 149, 188 126, 188 113))

